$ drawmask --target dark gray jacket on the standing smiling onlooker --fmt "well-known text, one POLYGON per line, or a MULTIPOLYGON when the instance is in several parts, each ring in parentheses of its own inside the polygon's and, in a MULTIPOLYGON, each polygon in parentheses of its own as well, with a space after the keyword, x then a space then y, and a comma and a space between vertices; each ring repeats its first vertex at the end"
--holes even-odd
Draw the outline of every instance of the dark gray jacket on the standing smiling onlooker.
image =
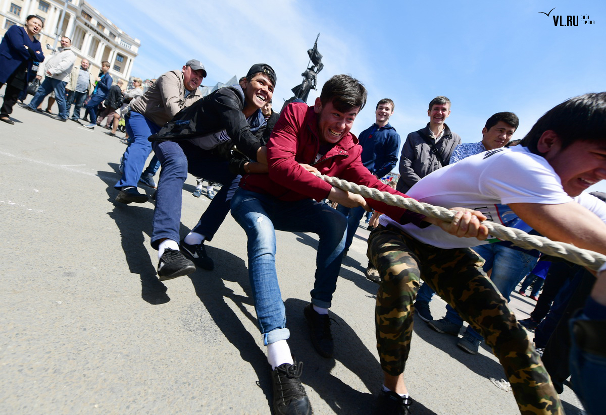
POLYGON ((429 123, 419 131, 406 137, 400 156, 400 180, 396 190, 406 193, 421 177, 448 165, 454 148, 461 143, 461 137, 450 131, 444 124, 444 134, 434 146, 429 123), (432 152, 433 148, 433 152, 432 152))

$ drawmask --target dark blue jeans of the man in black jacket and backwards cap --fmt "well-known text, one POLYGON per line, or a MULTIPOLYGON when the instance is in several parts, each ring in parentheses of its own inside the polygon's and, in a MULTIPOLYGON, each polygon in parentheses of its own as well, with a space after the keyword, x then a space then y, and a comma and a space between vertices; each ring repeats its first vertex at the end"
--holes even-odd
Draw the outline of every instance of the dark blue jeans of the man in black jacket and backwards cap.
MULTIPOLYGON (((133 115, 130 116, 130 122, 133 122, 133 115)), ((195 177, 204 177, 223 185, 192 229, 193 232, 204 235, 205 240, 211 241, 229 212, 228 192, 230 189, 233 191, 239 183, 239 180, 235 180, 237 176, 229 170, 229 162, 188 140, 154 142, 152 148, 162 164, 162 170, 156 192, 156 209, 153 212, 151 246, 158 249, 159 240, 163 238, 179 241, 181 198, 188 172, 195 177)))

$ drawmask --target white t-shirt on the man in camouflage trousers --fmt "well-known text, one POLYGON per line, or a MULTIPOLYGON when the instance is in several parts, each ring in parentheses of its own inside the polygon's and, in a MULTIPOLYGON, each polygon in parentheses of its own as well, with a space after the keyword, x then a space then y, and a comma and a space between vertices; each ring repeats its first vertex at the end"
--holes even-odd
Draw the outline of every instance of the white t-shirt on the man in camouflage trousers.
MULTIPOLYGON (((514 146, 472 155, 421 178, 407 195, 443 208, 474 209, 488 220, 528 232, 525 224, 508 203, 562 204, 576 201, 606 222, 606 203, 587 193, 571 198, 547 160, 528 148, 514 146)), ((439 248, 473 247, 496 242, 476 238, 458 238, 438 226, 421 229, 414 224, 401 225, 382 215, 379 223, 393 224, 417 240, 439 248)))

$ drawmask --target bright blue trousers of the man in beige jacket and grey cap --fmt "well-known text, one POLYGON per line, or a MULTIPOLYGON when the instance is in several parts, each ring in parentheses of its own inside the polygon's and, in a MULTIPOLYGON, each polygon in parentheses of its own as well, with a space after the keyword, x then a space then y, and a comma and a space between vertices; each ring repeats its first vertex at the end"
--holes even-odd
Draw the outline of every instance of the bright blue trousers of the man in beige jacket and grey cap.
MULTIPOLYGON (((143 114, 131 111, 130 119, 126 122, 126 131, 130 137, 130 145, 128 145, 122 156, 122 177, 118 180, 118 183, 114 185, 114 188, 118 190, 124 186, 137 187, 137 183, 139 183, 139 178, 141 177, 141 171, 151 152, 151 143, 147 138, 160 131, 160 127, 145 118, 143 114)), ((156 164, 157 162, 158 159, 156 158, 156 164)))

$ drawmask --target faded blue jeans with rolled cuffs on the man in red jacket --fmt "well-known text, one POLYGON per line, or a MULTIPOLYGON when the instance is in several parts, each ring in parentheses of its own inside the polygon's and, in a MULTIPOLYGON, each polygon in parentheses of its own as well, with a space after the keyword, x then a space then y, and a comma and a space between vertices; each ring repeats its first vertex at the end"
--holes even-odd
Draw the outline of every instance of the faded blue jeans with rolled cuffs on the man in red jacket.
POLYGON ((288 339, 290 332, 276 273, 275 230, 318 234, 311 303, 327 309, 341 269, 347 221, 326 203, 311 199, 282 201, 244 189, 238 189, 233 196, 231 215, 248 237, 248 276, 264 344, 288 339))

